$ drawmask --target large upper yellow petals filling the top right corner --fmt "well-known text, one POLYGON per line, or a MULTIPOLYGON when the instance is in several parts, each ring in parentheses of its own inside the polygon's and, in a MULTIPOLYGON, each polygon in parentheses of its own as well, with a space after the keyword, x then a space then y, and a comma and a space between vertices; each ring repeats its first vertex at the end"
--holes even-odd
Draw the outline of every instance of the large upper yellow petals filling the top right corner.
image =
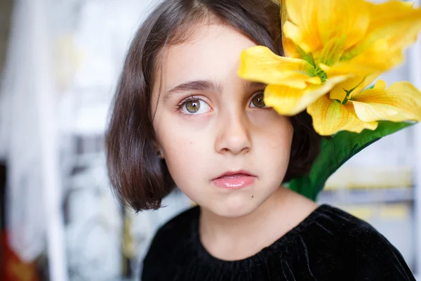
POLYGON ((328 65, 335 72, 389 70, 402 62, 403 48, 412 44, 421 30, 421 9, 402 1, 283 2, 287 13, 284 42, 293 41, 296 48, 312 54, 316 65, 322 69, 328 65))

